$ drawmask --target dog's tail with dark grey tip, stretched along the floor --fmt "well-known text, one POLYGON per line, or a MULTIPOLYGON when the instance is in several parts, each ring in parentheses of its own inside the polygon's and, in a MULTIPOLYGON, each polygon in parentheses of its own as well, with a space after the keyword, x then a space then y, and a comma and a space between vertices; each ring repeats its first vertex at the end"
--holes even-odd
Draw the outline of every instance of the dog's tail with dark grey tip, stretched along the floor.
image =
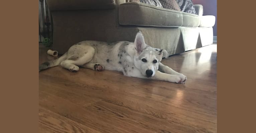
POLYGON ((45 62, 45 63, 39 65, 39 71, 47 69, 49 67, 58 66, 62 61, 67 59, 67 55, 68 54, 65 53, 64 55, 62 55, 61 57, 59 57, 56 60, 48 61, 48 62, 45 62))

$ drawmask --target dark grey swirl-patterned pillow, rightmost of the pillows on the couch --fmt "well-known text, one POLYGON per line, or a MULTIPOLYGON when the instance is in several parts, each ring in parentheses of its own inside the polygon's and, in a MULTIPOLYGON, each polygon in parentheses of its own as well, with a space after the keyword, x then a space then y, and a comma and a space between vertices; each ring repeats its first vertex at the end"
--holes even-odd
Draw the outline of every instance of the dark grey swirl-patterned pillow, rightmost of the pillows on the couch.
POLYGON ((192 0, 176 0, 176 1, 179 5, 181 12, 197 14, 192 0))

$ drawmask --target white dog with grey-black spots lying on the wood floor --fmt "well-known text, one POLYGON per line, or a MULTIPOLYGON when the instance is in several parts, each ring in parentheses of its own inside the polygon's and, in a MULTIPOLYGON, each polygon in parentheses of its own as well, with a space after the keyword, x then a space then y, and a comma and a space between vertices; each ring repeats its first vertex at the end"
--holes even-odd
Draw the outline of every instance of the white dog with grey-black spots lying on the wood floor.
POLYGON ((184 83, 187 77, 160 63, 162 58, 168 58, 167 51, 146 45, 142 33, 138 32, 134 42, 82 41, 58 59, 39 65, 39 71, 60 65, 77 72, 80 66, 96 71, 122 71, 130 77, 184 83))

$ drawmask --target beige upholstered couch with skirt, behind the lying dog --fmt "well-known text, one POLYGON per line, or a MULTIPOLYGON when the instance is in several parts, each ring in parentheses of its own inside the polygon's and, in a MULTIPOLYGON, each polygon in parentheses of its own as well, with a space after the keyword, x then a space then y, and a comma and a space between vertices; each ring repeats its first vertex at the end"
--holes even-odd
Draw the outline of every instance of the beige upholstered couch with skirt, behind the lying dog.
POLYGON ((169 55, 213 43, 215 16, 203 16, 125 0, 47 0, 53 19, 53 48, 64 54, 84 40, 131 41, 138 31, 147 45, 169 55))

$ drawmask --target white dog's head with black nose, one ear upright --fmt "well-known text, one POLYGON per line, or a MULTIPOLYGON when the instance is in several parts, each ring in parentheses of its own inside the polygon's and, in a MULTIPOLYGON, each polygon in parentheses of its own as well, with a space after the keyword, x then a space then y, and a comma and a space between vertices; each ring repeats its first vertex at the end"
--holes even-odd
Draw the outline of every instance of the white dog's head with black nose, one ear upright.
POLYGON ((137 33, 134 45, 136 53, 134 56, 135 67, 146 77, 154 76, 158 70, 159 62, 161 62, 163 57, 168 57, 167 51, 146 45, 141 32, 137 33))

